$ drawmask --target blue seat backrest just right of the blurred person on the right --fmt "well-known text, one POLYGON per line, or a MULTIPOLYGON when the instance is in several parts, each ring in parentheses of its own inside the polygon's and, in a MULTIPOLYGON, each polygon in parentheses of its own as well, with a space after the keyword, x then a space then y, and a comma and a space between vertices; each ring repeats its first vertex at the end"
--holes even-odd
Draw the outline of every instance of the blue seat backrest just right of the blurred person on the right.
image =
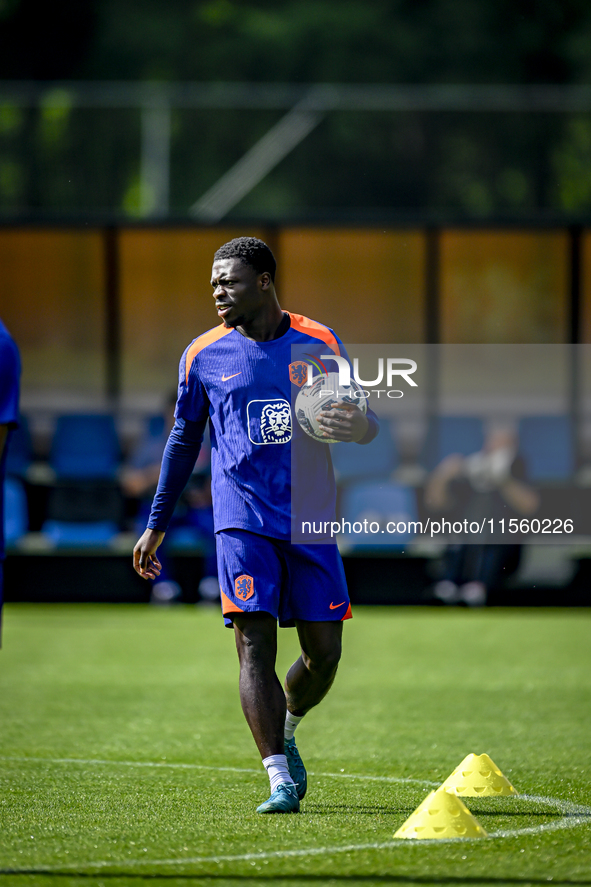
POLYGON ((575 469, 568 416, 526 416, 519 422, 519 452, 532 481, 565 481, 575 469))

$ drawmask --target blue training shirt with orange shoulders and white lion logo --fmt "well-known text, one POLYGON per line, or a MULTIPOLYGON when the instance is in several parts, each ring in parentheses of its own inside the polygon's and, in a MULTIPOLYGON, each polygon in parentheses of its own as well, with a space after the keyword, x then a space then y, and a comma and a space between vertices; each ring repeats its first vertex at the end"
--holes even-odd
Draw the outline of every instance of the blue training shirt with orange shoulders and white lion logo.
MULTIPOLYGON (((221 324, 186 349, 179 367, 176 421, 148 527, 168 527, 208 419, 216 532, 234 528, 289 539, 302 519, 334 520, 330 450, 294 420, 293 403, 303 378, 290 365, 293 346, 304 347, 312 357, 345 351, 329 327, 298 314, 290 313, 289 319, 284 335, 268 342, 254 342, 221 324)), ((371 410, 367 418, 362 443, 378 433, 371 410)))

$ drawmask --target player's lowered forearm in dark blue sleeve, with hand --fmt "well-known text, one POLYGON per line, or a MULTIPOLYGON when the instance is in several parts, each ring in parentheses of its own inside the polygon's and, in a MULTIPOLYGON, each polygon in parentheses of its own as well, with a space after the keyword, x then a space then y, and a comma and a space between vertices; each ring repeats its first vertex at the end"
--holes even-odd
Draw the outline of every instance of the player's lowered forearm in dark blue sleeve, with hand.
POLYGON ((133 549, 133 567, 143 579, 156 579, 160 575, 162 565, 156 551, 195 466, 206 423, 207 418, 199 422, 177 418, 170 432, 148 526, 133 549))

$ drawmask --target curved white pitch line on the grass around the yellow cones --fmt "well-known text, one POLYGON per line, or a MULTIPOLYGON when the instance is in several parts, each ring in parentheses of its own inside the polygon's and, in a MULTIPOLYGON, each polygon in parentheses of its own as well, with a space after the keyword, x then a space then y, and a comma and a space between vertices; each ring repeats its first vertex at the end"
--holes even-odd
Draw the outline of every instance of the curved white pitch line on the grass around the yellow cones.
MULTIPOLYGON (((240 768, 240 767, 212 767, 206 764, 175 764, 168 763, 164 761, 108 761, 108 760, 99 760, 99 759, 89 759, 84 760, 81 758, 33 758, 33 757, 3 757, 0 756, 0 761, 35 761, 49 764, 98 764, 98 765, 119 765, 119 766, 128 766, 128 767, 171 767, 171 768, 182 768, 182 769, 203 769, 203 770, 221 770, 221 771, 231 771, 238 773, 259 773, 259 770, 240 768)), ((397 782, 397 783, 420 783, 422 785, 437 785, 438 783, 433 783, 425 779, 410 779, 405 777, 396 777, 396 776, 358 776, 354 773, 317 773, 317 776, 322 777, 330 777, 330 778, 350 778, 350 779, 366 779, 366 780, 375 780, 380 782, 397 782)), ((534 826, 526 826, 521 829, 501 829, 496 832, 490 832, 488 834, 488 839, 494 838, 516 838, 525 835, 539 835, 544 832, 552 832, 558 831, 561 829, 569 829, 576 828, 579 825, 588 825, 591 822, 591 807, 584 806, 582 804, 574 804, 571 801, 564 801, 560 798, 549 798, 541 795, 518 795, 516 799, 522 801, 529 801, 532 803, 542 804, 545 806, 558 807, 563 814, 561 819, 554 820, 553 822, 543 823, 541 825, 534 826)), ((438 846, 440 844, 449 844, 449 843, 458 843, 458 842, 466 842, 466 841, 474 841, 474 840, 486 840, 486 838, 439 838, 437 840, 431 841, 417 841, 417 840, 408 840, 404 838, 399 838, 397 840, 392 841, 384 841, 382 843, 374 843, 374 844, 346 844, 340 845, 336 847, 307 847, 300 848, 297 850, 268 850, 268 851, 260 851, 258 853, 238 853, 238 854, 228 854, 228 855, 217 855, 217 856, 193 856, 193 857, 183 857, 177 859, 150 859, 142 858, 142 859, 122 859, 119 861, 115 860, 99 860, 99 861, 88 861, 84 863, 74 863, 67 862, 60 866, 36 866, 29 868, 6 868, 0 869, 0 873, 2 874, 18 874, 19 872, 24 873, 28 872, 30 874, 33 873, 50 873, 50 872, 59 872, 64 870, 82 870, 82 869, 104 869, 104 868, 115 868, 120 869, 126 866, 134 867, 134 866, 179 866, 179 865, 203 865, 205 863, 209 864, 219 864, 223 862, 256 862, 257 860, 266 860, 266 859, 288 859, 290 857, 306 857, 306 856, 320 856, 320 855, 334 855, 337 853, 358 853, 364 850, 390 850, 394 847, 409 847, 420 845, 421 847, 425 846, 438 846)))

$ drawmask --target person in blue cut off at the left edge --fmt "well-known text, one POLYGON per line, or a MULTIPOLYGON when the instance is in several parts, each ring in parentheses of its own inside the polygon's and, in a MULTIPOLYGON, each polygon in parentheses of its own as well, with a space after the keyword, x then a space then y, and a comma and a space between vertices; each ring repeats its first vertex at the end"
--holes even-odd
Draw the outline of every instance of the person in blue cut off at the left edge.
POLYGON ((4 478, 10 432, 18 427, 21 362, 16 342, 0 320, 0 644, 4 578, 4 478))

